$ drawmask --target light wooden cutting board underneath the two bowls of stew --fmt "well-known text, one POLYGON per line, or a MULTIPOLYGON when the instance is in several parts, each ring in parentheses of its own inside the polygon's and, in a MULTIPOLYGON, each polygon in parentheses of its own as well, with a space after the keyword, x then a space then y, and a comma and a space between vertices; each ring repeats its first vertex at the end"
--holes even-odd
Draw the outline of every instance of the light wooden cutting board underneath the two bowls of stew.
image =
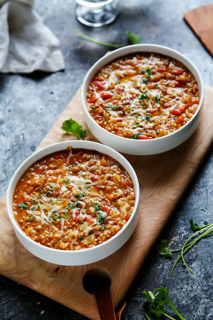
MULTIPOLYGON (((140 183, 140 217, 134 234, 123 247, 99 262, 77 267, 58 266, 29 253, 14 235, 5 199, 0 200, 0 273, 94 320, 99 319, 93 295, 83 289, 82 277, 91 268, 104 268, 112 278, 114 306, 132 281, 213 140, 213 87, 205 85, 205 100, 198 129, 181 146, 154 156, 130 156, 140 183)), ((86 127, 80 90, 65 108, 37 149, 75 139, 60 129, 74 118, 86 127)), ((39 128, 38 128, 39 129, 39 128)), ((95 140, 87 128, 87 140, 95 140)), ((86 250, 86 249, 85 249, 86 250)), ((19 293, 17 292, 17 295, 19 293)))

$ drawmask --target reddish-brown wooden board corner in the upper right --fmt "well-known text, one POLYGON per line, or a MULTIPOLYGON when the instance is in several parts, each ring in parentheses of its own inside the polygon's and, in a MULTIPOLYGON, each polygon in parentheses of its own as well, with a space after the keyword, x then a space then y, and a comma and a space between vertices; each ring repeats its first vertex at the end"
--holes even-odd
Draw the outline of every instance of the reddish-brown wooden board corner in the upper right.
POLYGON ((213 4, 186 12, 184 19, 213 56, 213 4))

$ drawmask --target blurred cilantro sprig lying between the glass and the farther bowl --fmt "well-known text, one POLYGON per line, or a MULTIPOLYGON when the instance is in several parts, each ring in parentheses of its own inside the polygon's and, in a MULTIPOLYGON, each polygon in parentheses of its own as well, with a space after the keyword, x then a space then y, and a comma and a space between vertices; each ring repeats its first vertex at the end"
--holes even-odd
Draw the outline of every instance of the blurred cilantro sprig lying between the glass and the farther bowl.
POLYGON ((140 36, 134 34, 131 31, 128 31, 128 30, 125 31, 126 35, 129 37, 129 41, 130 41, 130 43, 128 43, 128 44, 112 44, 112 43, 101 42, 101 41, 95 40, 95 39, 93 39, 93 38, 91 38, 89 36, 86 36, 83 32, 81 32, 81 31, 79 31, 77 29, 74 29, 74 31, 75 31, 75 33, 77 33, 79 36, 81 36, 85 40, 93 42, 93 43, 96 43, 96 44, 103 45, 105 47, 120 48, 120 47, 125 47, 126 45, 140 43, 140 36))

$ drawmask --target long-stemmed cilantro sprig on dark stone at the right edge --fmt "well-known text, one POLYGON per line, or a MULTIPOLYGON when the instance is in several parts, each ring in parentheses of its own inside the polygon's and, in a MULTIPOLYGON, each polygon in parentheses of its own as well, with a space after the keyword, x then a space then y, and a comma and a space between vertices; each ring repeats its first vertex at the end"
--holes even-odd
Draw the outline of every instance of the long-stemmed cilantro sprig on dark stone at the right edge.
POLYGON ((182 261, 183 261, 184 265, 186 266, 186 268, 194 275, 194 272, 189 268, 189 266, 185 262, 184 254, 189 249, 191 249, 193 247, 193 245, 195 245, 198 241, 200 241, 201 239, 207 237, 213 231, 213 223, 210 223, 210 224, 205 225, 205 226, 199 226, 196 222, 193 222, 193 219, 190 219, 189 222, 190 222, 191 229, 194 231, 194 233, 185 241, 185 244, 182 246, 182 248, 170 250, 169 246, 167 244, 167 240, 162 240, 161 244, 159 244, 157 246, 157 252, 160 255, 164 256, 165 258, 172 257, 172 254, 174 252, 178 252, 178 251, 181 252, 181 254, 177 258, 177 260, 175 261, 175 263, 174 263, 174 265, 173 265, 173 267, 171 269, 171 277, 173 276, 173 271, 174 271, 174 269, 175 269, 175 267, 176 267, 176 265, 177 265, 177 263, 178 263, 178 261, 180 259, 182 259, 182 261), (191 240, 193 240, 193 241, 191 241, 191 240))

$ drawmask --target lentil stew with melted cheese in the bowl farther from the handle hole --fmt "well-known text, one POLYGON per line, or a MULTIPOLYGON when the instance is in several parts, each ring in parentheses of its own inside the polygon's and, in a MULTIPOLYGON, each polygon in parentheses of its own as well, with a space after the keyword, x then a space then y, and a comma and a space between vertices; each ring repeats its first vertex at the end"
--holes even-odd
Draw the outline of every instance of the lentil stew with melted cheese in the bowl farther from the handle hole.
POLYGON ((107 131, 153 139, 191 119, 199 104, 199 87, 181 62, 157 53, 134 53, 101 68, 89 84, 86 100, 92 118, 107 131))

